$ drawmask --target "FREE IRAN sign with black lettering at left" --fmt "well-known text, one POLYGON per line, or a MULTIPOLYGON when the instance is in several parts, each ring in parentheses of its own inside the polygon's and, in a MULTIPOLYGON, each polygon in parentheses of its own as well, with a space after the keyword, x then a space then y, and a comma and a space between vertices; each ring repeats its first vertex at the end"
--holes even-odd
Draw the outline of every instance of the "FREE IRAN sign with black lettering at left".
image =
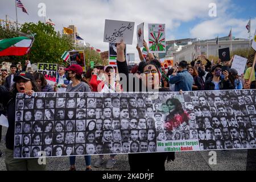
POLYGON ((57 64, 52 63, 38 63, 38 71, 39 73, 43 73, 44 77, 48 84, 54 85, 56 83, 57 78, 57 64))

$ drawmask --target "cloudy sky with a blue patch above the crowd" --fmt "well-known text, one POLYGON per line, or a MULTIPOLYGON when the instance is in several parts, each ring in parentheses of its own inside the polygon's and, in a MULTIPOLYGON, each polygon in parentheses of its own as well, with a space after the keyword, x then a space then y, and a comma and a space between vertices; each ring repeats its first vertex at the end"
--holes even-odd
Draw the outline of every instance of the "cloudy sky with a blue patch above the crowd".
MULTIPOLYGON (((38 16, 39 3, 46 4, 47 17, 61 31, 71 22, 78 28, 80 36, 93 47, 108 50, 103 42, 105 19, 135 22, 135 27, 144 22, 145 39, 148 39, 148 23, 165 23, 166 40, 183 38, 212 39, 228 36, 232 27, 233 36, 247 38, 246 24, 251 16, 251 34, 256 28, 255 0, 21 0, 28 14, 18 9, 18 22, 43 21, 38 16), (209 4, 217 6, 217 16, 209 16, 209 4)), ((8 15, 15 20, 15 0, 0 1, 0 19, 8 15)), ((129 53, 135 53, 137 38, 134 33, 129 53)))

